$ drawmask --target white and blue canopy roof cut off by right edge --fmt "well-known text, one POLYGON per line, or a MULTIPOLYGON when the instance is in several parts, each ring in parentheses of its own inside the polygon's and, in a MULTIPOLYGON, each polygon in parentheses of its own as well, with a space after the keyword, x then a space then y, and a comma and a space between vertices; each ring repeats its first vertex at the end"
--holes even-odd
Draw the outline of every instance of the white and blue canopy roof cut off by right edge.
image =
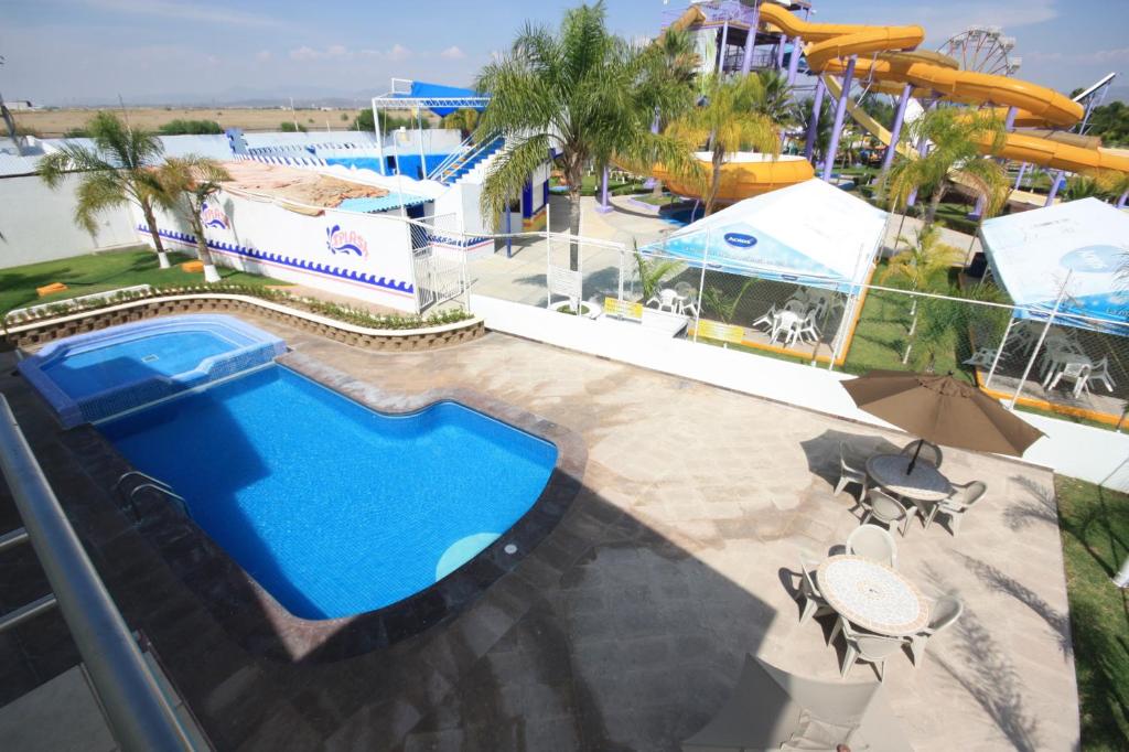
POLYGON ((1129 335, 1129 291, 1118 268, 1129 256, 1129 213, 1097 199, 997 217, 980 230, 988 264, 1018 315, 1129 335), (1085 318, 1079 318, 1085 316, 1085 318))

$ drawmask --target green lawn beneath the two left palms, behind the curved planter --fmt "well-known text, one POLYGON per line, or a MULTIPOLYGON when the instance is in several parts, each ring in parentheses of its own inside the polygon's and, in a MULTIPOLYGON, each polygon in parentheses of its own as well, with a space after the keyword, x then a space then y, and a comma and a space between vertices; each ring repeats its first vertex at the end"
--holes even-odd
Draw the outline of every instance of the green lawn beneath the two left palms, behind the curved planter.
MULTIPOLYGON (((0 313, 132 285, 164 287, 203 283, 203 274, 182 271, 177 265, 191 261, 191 256, 170 253, 168 257, 173 268, 158 269, 157 254, 145 246, 138 246, 0 269, 0 313), (42 298, 35 292, 35 288, 52 282, 62 282, 70 289, 42 298)), ((269 277, 247 274, 225 266, 219 266, 218 271, 228 285, 287 285, 269 277)))

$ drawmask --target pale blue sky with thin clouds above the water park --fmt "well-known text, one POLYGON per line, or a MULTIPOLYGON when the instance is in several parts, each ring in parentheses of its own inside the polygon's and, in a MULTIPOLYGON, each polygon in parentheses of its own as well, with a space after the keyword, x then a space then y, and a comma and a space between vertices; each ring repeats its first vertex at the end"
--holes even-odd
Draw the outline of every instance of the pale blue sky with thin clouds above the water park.
MULTIPOLYGON (((467 85, 525 21, 561 0, 0 0, 0 93, 36 104, 368 97, 393 76, 467 85)), ((609 0, 610 27, 654 36, 684 0, 609 0)), ((1003 26, 1018 78, 1064 91, 1111 71, 1129 85, 1129 0, 815 0, 813 20, 919 24, 937 49, 1003 26)))

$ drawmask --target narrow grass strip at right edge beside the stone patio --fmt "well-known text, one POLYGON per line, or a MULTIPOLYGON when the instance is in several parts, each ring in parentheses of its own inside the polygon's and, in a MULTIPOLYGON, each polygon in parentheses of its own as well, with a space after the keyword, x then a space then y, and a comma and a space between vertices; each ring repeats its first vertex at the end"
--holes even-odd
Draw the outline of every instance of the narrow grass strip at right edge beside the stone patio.
POLYGON ((1129 749, 1129 598, 1110 582, 1129 554, 1129 496, 1056 479, 1084 750, 1129 749))

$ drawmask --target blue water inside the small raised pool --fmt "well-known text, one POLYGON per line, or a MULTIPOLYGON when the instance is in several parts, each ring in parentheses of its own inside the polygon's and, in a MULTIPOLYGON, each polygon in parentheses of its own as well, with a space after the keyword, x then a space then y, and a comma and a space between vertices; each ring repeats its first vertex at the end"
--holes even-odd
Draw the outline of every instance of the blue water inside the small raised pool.
POLYGON ((45 364, 43 373, 78 400, 155 374, 183 374, 244 344, 215 331, 165 332, 73 352, 45 364))

